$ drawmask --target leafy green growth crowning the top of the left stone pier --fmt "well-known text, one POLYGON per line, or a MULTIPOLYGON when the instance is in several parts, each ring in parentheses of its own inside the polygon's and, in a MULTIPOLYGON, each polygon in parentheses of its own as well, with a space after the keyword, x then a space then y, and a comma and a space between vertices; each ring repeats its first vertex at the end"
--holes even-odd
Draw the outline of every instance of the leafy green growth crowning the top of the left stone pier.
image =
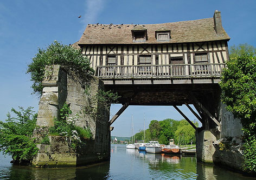
POLYGON ((28 65, 27 73, 31 74, 31 86, 34 93, 42 94, 42 81, 46 65, 59 64, 67 71, 73 71, 83 78, 90 78, 94 71, 90 67, 89 59, 82 56, 81 50, 54 41, 46 49, 38 49, 32 62, 28 65))

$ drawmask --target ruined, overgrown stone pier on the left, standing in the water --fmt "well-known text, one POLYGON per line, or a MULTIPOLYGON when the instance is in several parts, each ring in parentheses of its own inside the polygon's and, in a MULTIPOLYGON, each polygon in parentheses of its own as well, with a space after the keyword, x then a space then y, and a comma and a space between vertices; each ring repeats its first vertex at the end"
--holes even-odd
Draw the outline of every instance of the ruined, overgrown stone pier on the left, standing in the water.
POLYGON ((100 89, 104 90, 104 84, 98 78, 92 78, 85 93, 85 85, 81 82, 75 74, 67 74, 59 65, 47 67, 37 117, 39 128, 34 131, 37 142, 48 135, 48 128, 54 125, 53 119, 59 117, 59 110, 65 102, 70 104, 71 116, 79 117, 76 125, 89 128, 92 138, 82 139, 82 145, 73 150, 66 137, 49 136, 49 145, 37 144, 39 154, 33 161, 34 166, 76 166, 110 158, 109 111, 93 101, 94 95, 100 89), (88 106, 95 108, 93 116, 86 113, 88 106))

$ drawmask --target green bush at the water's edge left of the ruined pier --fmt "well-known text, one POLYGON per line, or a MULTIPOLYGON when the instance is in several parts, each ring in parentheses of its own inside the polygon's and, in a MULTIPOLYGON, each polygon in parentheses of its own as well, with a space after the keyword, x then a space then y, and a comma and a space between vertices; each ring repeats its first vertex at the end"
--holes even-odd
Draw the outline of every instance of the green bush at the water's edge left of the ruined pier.
POLYGON ((0 121, 0 151, 21 162, 33 159, 39 149, 32 138, 37 114, 31 107, 19 108, 20 111, 11 109, 17 117, 11 117, 8 112, 6 122, 0 121))

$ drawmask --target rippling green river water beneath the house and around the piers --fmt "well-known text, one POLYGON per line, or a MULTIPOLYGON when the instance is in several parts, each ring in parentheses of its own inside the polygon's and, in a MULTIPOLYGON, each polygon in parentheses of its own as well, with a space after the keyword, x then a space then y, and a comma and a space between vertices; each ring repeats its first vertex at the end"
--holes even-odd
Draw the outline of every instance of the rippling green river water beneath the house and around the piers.
POLYGON ((78 168, 31 168, 0 155, 0 179, 255 179, 203 165, 196 157, 146 154, 111 145, 111 161, 78 168))

